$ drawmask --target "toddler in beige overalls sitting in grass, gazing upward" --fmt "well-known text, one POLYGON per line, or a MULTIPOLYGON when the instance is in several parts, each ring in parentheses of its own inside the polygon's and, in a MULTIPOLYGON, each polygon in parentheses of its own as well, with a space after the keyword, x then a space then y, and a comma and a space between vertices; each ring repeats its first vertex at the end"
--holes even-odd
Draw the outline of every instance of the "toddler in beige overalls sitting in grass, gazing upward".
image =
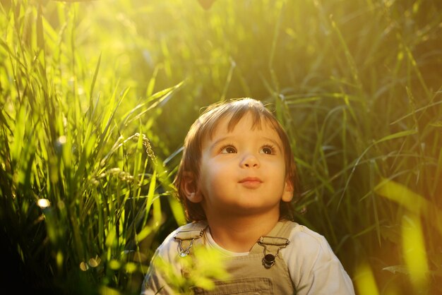
MULTIPOLYGON (((204 245, 225 255, 231 275, 215 291, 195 293, 354 294, 325 238, 290 221, 294 157, 284 129, 258 100, 209 107, 186 136, 174 184, 191 223, 167 236, 154 258, 172 265, 204 245)), ((174 294, 152 261, 141 293, 174 294)))

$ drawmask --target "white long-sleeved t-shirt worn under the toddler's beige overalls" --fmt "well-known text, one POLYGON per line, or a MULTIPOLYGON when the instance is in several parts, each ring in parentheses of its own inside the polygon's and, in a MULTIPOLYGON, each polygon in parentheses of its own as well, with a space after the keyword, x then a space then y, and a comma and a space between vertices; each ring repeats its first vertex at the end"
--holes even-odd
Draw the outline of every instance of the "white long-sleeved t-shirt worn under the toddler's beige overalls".
MULTIPOLYGON (((168 263, 173 263, 174 259, 179 255, 177 243, 174 241, 174 235, 179 231, 173 231, 165 241, 157 248, 155 255, 160 256, 168 263)), ((223 255, 237 256, 247 255, 246 253, 234 253, 227 251, 219 246, 210 234, 210 229, 205 229, 205 234, 201 239, 205 239, 203 244, 208 247, 217 249, 223 255)), ((289 245, 280 250, 280 255, 285 260, 289 268, 289 275, 292 279, 297 295, 320 295, 320 294, 339 294, 354 295, 354 287, 352 280, 345 272, 344 267, 330 248, 328 241, 321 234, 311 229, 295 224, 289 235, 289 245)), ((160 282, 165 282, 155 270, 150 269, 152 275, 157 276, 160 282)), ((146 282, 149 281, 149 275, 145 277, 141 294, 151 295, 156 293, 155 286, 153 289, 146 289, 146 282)), ((167 287, 161 294, 173 294, 167 291, 167 287)))

